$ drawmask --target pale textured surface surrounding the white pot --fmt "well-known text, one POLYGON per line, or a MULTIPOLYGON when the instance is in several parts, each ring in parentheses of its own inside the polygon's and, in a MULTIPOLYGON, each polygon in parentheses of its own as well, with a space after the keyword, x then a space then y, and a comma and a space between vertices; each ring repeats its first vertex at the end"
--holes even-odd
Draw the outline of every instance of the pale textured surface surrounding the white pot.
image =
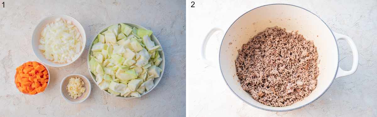
MULTIPOLYGON (((376 0, 190 0, 186 4, 188 116, 377 116, 376 0), (191 1, 195 1, 195 7, 190 7, 191 1), (359 66, 355 74, 334 80, 319 99, 288 112, 264 111, 242 102, 227 87, 219 68, 206 66, 200 59, 201 42, 212 27, 225 30, 248 10, 271 3, 288 3, 310 10, 334 32, 351 37, 359 50, 359 66)), ((222 35, 217 34, 207 46, 207 57, 215 63, 218 63, 221 39, 222 35)), ((340 67, 349 70, 351 49, 345 41, 338 44, 340 67)))

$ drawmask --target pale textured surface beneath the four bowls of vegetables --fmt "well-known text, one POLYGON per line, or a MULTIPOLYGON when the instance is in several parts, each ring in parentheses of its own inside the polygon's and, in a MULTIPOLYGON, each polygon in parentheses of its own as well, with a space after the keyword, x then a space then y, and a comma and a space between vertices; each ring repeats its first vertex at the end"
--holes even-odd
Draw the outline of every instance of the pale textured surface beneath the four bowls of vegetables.
POLYGON ((134 116, 178 117, 185 113, 185 3, 160 0, 1 0, 0 7, 0 117, 21 116, 134 116), (15 68, 37 60, 31 48, 35 26, 44 17, 66 14, 76 18, 86 31, 83 55, 71 65, 48 67, 51 80, 43 94, 21 95, 14 84, 15 68), (153 31, 165 52, 166 67, 158 86, 136 99, 105 94, 94 83, 90 97, 70 104, 60 95, 61 80, 69 74, 90 75, 87 49, 93 36, 115 23, 135 23, 153 31))

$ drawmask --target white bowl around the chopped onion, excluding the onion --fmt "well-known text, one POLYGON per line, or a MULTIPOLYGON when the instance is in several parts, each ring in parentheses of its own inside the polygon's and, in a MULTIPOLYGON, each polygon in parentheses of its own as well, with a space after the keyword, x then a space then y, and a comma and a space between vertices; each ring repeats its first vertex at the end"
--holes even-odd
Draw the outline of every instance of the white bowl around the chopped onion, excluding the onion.
POLYGON ((63 15, 63 14, 51 15, 51 16, 44 18, 35 27, 34 32, 33 32, 33 36, 32 36, 32 40, 31 40, 31 45, 32 45, 34 54, 38 57, 39 60, 41 60, 42 63, 44 63, 48 66, 52 66, 52 67, 63 67, 63 66, 67 66, 67 65, 75 62, 78 58, 80 58, 81 54, 83 54, 83 51, 84 51, 84 48, 85 48, 85 43, 86 43, 86 34, 85 34, 84 27, 81 26, 81 24, 75 18, 72 18, 68 15, 63 15), (81 45, 80 55, 77 58, 75 58, 75 60, 72 60, 71 62, 67 62, 67 63, 52 62, 50 60, 47 60, 44 57, 43 53, 38 49, 39 39, 41 38, 42 30, 44 29, 44 27, 46 27, 47 24, 54 22, 56 18, 62 18, 62 19, 67 20, 67 21, 72 21, 72 24, 74 24, 77 27, 78 31, 80 31, 81 43, 83 45, 81 45))

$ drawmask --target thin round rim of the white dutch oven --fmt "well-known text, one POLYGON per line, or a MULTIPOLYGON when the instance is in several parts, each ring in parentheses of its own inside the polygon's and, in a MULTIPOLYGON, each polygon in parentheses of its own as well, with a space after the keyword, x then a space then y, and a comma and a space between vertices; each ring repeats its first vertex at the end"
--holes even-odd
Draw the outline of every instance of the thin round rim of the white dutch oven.
MULTIPOLYGON (((326 27, 330 30, 331 34, 333 34, 334 40, 335 40, 335 42, 336 42, 336 38, 335 38, 335 36, 334 36, 333 31, 328 27, 328 25, 327 25, 327 24, 326 24, 326 23, 325 23, 320 17, 318 17, 318 15, 314 14, 314 13, 311 12, 310 10, 305 9, 305 8, 303 8, 303 7, 300 7, 300 6, 290 5, 290 4, 283 4, 283 3, 267 4, 267 5, 262 5, 262 6, 259 6, 259 7, 270 6, 270 5, 289 5, 289 6, 299 7, 299 8, 301 8, 301 9, 303 9, 303 10, 307 10, 308 12, 312 13, 312 14, 315 15, 317 18, 319 18, 319 19, 323 22, 323 24, 326 25, 326 27)), ((255 7, 255 8, 253 8, 253 9, 251 9, 251 10, 257 9, 257 8, 259 8, 259 7, 255 7)), ((337 68, 336 68, 336 71, 335 71, 335 74, 334 74, 334 78, 331 80, 331 83, 330 83, 329 86, 326 88, 326 90, 325 90, 324 92, 322 92, 321 95, 319 95, 319 96, 318 96, 316 99, 314 99, 313 101, 308 102, 307 104, 301 105, 301 106, 296 107, 296 108, 287 109, 287 110, 271 110, 271 109, 262 108, 262 107, 258 107, 258 106, 256 106, 256 105, 250 104, 249 102, 247 102, 247 101, 245 101, 244 99, 242 99, 239 95, 237 95, 237 94, 236 94, 236 93, 230 88, 228 82, 225 80, 224 74, 222 73, 222 69, 221 69, 221 57, 220 57, 220 56, 221 56, 221 46, 222 46, 222 42, 224 41, 225 35, 228 33, 230 27, 233 26, 233 24, 234 24, 239 18, 241 18, 242 16, 244 16, 246 13, 250 12, 251 10, 245 12, 244 14, 242 14, 241 16, 239 16, 236 20, 234 20, 233 23, 229 26, 229 28, 228 28, 227 31, 225 32, 224 37, 223 37, 222 40, 221 40, 221 45, 220 45, 220 49, 219 49, 219 66, 220 66, 220 71, 221 71, 222 78, 224 79, 224 81, 225 81, 225 83, 227 84, 227 86, 229 87, 229 89, 233 92, 234 95, 236 95, 239 99, 241 99, 242 101, 244 101, 244 102, 247 103, 248 105, 251 105, 251 106, 253 106, 253 107, 255 107, 255 108, 259 108, 259 109, 266 110, 266 111, 275 111, 275 112, 291 111, 291 110, 296 110, 296 109, 302 108, 302 107, 304 107, 304 106, 310 104, 311 102, 316 101, 319 97, 321 97, 321 96, 322 96, 322 95, 323 95, 323 94, 329 89, 329 87, 331 86, 331 84, 333 84, 334 79, 335 79, 335 77, 336 77, 336 74, 337 74, 337 72, 338 72, 338 68, 339 68, 339 48, 338 48, 338 43, 336 43, 337 52, 338 52, 338 63, 337 63, 337 68)))

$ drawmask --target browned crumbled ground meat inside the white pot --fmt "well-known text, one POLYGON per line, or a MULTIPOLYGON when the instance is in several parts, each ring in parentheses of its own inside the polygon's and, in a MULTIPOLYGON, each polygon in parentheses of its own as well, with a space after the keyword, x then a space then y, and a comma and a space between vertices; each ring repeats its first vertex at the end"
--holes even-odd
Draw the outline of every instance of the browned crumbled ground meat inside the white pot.
POLYGON ((236 74, 241 86, 262 104, 292 105, 316 88, 316 46, 297 32, 267 28, 242 45, 238 53, 236 74))

